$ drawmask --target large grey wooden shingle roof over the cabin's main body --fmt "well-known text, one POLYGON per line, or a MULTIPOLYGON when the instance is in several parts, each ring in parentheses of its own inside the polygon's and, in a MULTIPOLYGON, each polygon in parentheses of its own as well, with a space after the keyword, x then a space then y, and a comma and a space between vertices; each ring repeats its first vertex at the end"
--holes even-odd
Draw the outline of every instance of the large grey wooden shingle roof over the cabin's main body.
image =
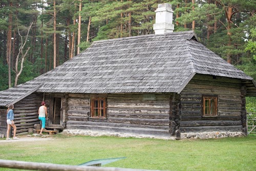
POLYGON ((30 83, 48 93, 180 93, 195 74, 252 80, 184 31, 95 41, 30 83))

